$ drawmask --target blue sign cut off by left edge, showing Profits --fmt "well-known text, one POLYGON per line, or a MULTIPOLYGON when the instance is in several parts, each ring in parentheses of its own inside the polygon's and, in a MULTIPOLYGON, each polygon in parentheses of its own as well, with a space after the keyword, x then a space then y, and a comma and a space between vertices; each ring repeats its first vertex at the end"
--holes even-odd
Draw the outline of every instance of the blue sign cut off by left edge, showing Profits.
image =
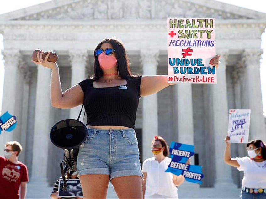
POLYGON ((0 134, 2 130, 10 132, 14 130, 16 126, 17 126, 16 116, 10 115, 8 111, 0 116, 0 134))

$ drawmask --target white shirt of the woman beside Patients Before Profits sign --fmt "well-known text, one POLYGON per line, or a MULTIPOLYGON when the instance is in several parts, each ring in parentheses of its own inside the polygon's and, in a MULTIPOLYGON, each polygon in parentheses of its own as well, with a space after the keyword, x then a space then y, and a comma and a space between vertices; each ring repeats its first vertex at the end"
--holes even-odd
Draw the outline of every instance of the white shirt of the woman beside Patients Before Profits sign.
POLYGON ((171 158, 165 157, 160 163, 154 157, 143 162, 142 172, 147 172, 145 196, 154 194, 178 198, 177 188, 173 183, 173 174, 165 172, 171 163, 171 158))

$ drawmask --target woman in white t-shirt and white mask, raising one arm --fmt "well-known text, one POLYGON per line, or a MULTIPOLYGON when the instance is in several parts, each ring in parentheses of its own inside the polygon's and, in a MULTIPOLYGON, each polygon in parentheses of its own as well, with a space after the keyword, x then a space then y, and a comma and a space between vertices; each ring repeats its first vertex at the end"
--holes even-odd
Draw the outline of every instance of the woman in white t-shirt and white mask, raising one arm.
POLYGON ((224 161, 230 166, 244 171, 240 198, 266 198, 266 146, 261 140, 251 140, 247 143, 249 157, 231 158, 230 137, 225 138, 226 148, 224 161))

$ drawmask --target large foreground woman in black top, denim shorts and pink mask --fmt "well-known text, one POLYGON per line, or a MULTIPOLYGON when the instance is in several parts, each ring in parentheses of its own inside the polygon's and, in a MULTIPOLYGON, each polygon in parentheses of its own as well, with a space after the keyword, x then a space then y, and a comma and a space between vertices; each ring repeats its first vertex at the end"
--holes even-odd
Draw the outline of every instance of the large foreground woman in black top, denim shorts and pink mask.
MULTIPOLYGON (((131 74, 123 44, 104 39, 94 50, 94 75, 62 92, 58 65, 48 61, 50 53, 45 59, 42 54, 33 62, 52 70, 52 106, 69 109, 84 102, 88 137, 77 156, 84 198, 106 198, 109 181, 119 198, 142 198, 136 112, 140 97, 171 85, 168 76, 131 74)), ((218 67, 219 57, 210 65, 218 67)))

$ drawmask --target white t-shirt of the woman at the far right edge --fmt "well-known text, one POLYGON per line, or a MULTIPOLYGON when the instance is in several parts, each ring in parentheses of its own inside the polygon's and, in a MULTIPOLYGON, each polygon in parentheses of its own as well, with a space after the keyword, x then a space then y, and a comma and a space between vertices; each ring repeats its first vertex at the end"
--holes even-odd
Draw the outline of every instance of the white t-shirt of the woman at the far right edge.
POLYGON ((252 189, 266 188, 266 160, 255 162, 249 157, 236 157, 235 159, 240 165, 237 169, 244 171, 242 186, 252 189))

